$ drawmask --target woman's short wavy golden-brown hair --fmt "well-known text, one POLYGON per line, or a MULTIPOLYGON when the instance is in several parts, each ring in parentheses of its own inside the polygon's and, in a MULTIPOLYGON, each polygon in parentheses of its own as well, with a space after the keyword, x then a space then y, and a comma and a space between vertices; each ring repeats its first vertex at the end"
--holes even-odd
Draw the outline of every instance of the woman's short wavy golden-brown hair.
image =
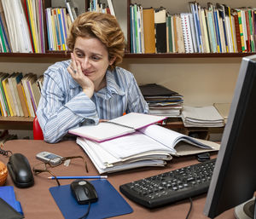
POLYGON ((118 21, 111 14, 85 12, 80 14, 70 28, 67 47, 73 51, 77 37, 96 37, 108 50, 109 61, 115 58, 113 69, 123 61, 125 54, 125 37, 118 21))

